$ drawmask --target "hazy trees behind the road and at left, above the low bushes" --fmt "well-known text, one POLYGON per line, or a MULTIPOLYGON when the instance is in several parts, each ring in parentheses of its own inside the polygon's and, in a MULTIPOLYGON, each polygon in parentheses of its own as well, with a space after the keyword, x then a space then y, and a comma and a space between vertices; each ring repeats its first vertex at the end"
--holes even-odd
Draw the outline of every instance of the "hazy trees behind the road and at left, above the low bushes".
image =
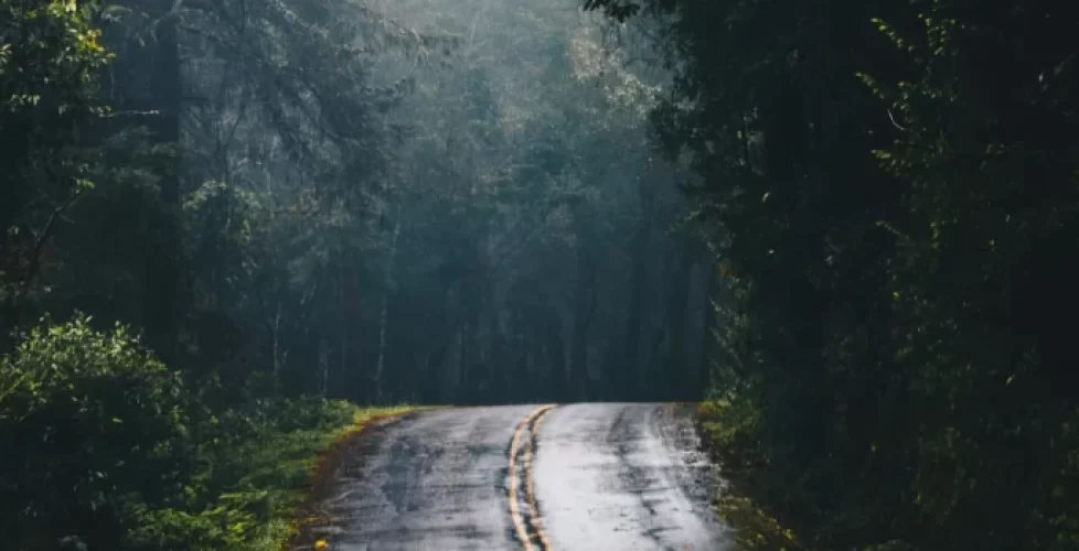
POLYGON ((667 77, 575 3, 76 2, 75 67, 9 4, 83 73, 4 73, 6 335, 131 324, 223 401, 702 396, 667 77))

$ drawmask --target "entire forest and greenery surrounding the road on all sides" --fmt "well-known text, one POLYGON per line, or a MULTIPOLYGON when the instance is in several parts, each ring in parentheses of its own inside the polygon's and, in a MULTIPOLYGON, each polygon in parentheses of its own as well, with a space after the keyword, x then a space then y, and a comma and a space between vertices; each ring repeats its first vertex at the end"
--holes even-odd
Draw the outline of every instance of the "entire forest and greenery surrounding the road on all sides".
POLYGON ((0 549, 279 549, 354 404, 573 401, 805 549, 1079 549, 1077 22, 0 0, 0 549))

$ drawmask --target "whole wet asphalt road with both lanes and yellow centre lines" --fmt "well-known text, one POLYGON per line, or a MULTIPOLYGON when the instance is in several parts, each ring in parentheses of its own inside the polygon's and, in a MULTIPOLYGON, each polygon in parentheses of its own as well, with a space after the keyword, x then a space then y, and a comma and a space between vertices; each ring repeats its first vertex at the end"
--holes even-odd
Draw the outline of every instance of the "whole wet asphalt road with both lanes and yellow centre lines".
POLYGON ((716 550, 713 469, 662 404, 428 411, 364 434, 323 503, 330 550, 716 550))

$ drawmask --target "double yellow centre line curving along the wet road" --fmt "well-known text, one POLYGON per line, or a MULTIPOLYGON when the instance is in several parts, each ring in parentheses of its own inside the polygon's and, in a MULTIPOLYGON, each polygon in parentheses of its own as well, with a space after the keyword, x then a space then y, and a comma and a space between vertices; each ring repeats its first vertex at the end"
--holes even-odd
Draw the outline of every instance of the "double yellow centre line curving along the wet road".
POLYGON ((517 534, 517 540, 525 551, 536 551, 538 543, 540 551, 551 551, 551 541, 543 531, 540 523, 540 508, 536 504, 535 482, 532 476, 532 458, 535 455, 535 439, 540 433, 540 425, 543 418, 555 407, 543 406, 532 413, 525 415, 517 423, 517 429, 513 431, 513 440, 510 441, 510 519, 513 521, 513 530, 517 534), (522 441, 523 450, 522 450, 522 441), (520 471, 524 477, 524 496, 521 495, 521 477, 517 473, 517 456, 521 456, 520 471), (527 512, 521 511, 521 501, 525 503, 527 512), (532 530, 532 533, 528 530, 532 530))

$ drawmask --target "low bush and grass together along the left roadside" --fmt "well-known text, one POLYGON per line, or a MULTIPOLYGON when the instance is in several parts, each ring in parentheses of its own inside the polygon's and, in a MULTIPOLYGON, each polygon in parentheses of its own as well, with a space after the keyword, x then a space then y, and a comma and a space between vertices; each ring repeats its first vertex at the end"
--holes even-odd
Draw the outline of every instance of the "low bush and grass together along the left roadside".
POLYGON ((376 414, 263 400, 212 412, 129 329, 43 323, 0 360, 4 549, 277 549, 318 458, 376 414))

